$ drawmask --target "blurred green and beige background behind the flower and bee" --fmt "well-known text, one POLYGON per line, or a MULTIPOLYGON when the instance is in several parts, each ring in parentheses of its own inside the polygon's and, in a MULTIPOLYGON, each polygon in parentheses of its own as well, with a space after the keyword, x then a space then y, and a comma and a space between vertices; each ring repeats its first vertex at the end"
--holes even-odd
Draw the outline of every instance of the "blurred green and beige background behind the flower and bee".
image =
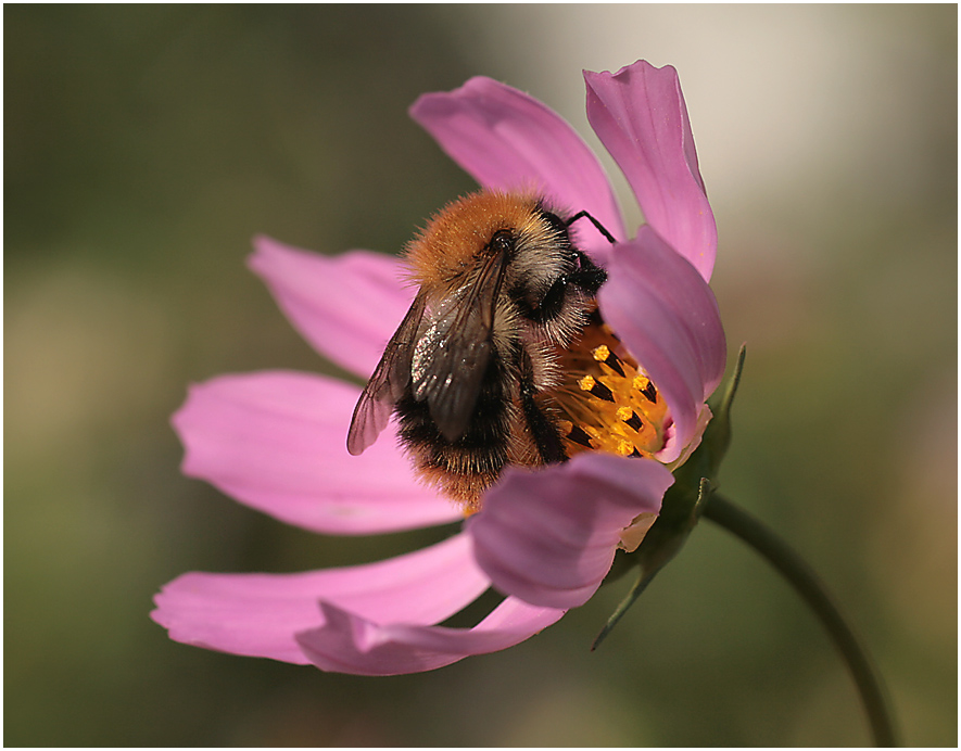
POLYGON ((724 489, 829 583, 906 742, 957 746, 956 7, 5 5, 4 43, 7 744, 869 742, 810 613, 707 522, 596 653, 625 583, 394 678, 148 619, 188 570, 429 536, 309 535, 180 476, 189 382, 334 372, 245 269, 250 238, 396 252, 472 188, 408 119, 419 93, 485 74, 596 144, 581 68, 645 58, 680 73, 748 345, 724 489))

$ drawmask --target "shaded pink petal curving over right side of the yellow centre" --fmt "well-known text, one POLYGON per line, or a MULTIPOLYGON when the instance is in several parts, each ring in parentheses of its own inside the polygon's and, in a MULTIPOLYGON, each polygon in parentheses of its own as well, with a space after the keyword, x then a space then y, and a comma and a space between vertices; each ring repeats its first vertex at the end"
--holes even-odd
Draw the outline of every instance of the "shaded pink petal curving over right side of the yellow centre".
POLYGON ((663 462, 696 437, 705 399, 724 374, 726 344, 713 292, 697 270, 645 225, 620 243, 598 301, 604 319, 634 355, 673 418, 663 462))

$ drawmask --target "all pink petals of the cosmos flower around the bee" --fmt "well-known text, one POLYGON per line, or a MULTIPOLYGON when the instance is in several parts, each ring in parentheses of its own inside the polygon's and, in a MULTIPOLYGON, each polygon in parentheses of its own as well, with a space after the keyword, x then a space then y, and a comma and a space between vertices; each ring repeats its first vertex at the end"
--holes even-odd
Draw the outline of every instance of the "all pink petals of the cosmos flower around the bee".
MULTIPOLYGON (((610 245, 582 231, 578 242, 608 271, 604 319, 666 403, 654 458, 585 451, 539 471, 508 469, 460 532, 390 560, 299 574, 185 574, 163 587, 151 614, 173 639, 362 675, 428 671, 553 624, 590 599, 630 530, 649 525, 673 481, 668 467, 700 440, 705 399, 724 369, 707 284, 717 231, 675 71, 640 61, 584 77, 591 126, 647 220, 633 239, 595 155, 531 97, 478 77, 422 96, 410 113, 481 186, 535 186, 552 205, 586 209, 616 238, 610 245), (633 524, 638 519, 647 521, 633 524), (492 585, 507 597, 480 624, 437 625, 492 585)), ((254 244, 251 267, 294 327, 323 355, 368 377, 414 296, 400 282, 400 262, 365 251, 318 256, 267 238, 254 244)), ((358 394, 353 384, 287 371, 191 386, 174 416, 184 472, 323 534, 460 519, 415 479, 393 425, 362 456, 347 455, 358 394)))

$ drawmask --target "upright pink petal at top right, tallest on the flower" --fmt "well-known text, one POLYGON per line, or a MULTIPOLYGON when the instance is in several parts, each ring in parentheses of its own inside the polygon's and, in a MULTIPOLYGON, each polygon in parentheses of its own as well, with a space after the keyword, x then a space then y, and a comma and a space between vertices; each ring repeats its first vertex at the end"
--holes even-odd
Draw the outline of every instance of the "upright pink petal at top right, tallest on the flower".
POLYGON ((584 72, 584 79, 591 127, 627 176, 647 222, 709 280, 718 229, 678 72, 641 60, 615 74, 584 72))

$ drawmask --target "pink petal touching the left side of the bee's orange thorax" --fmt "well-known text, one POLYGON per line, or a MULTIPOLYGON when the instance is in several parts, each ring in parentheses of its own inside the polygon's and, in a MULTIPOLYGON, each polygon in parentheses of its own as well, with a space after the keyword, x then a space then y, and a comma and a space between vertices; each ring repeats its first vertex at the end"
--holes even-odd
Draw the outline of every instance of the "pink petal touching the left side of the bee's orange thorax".
POLYGON ((414 300, 397 258, 351 251, 324 256, 254 238, 249 265, 317 352, 367 378, 414 300))

